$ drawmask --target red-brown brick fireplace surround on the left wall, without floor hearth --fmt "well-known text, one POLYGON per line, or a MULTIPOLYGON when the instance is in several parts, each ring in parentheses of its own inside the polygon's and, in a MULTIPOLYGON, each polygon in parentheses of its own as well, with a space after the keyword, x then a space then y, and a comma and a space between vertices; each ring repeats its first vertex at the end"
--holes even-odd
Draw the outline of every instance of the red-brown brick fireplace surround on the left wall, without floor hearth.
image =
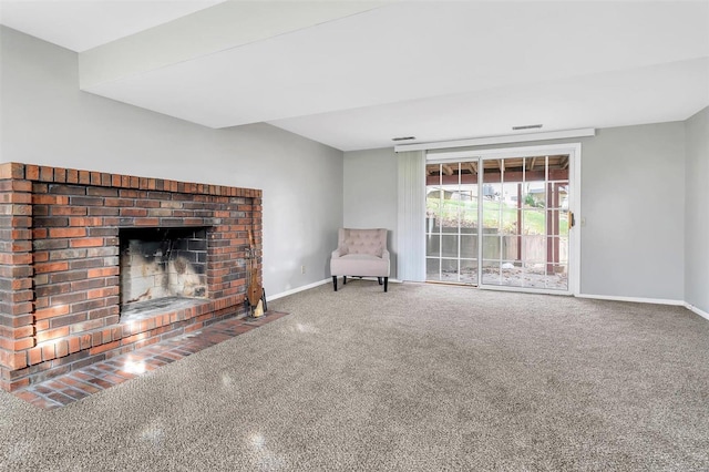
POLYGON ((0 164, 0 387, 245 316, 249 229, 258 189, 0 164))

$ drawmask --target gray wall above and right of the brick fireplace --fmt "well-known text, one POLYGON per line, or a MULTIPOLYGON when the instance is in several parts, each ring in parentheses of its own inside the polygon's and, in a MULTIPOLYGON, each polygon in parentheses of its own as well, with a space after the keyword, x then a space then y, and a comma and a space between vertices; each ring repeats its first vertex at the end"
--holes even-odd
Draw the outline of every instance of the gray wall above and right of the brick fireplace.
POLYGON ((342 152, 267 124, 210 130, 91 95, 74 52, 6 27, 0 44, 0 162, 261 188, 267 295, 328 277, 342 152))

